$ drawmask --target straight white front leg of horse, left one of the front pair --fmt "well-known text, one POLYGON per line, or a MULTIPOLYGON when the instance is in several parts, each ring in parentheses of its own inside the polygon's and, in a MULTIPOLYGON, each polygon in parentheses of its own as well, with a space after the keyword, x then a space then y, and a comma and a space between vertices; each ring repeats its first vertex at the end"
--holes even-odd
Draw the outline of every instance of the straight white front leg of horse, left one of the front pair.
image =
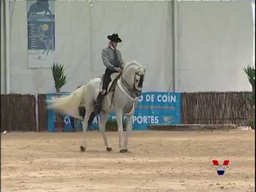
POLYGON ((116 122, 118 126, 118 132, 119 132, 119 148, 120 153, 127 152, 127 146, 125 146, 125 133, 123 128, 123 110, 116 111, 116 122))

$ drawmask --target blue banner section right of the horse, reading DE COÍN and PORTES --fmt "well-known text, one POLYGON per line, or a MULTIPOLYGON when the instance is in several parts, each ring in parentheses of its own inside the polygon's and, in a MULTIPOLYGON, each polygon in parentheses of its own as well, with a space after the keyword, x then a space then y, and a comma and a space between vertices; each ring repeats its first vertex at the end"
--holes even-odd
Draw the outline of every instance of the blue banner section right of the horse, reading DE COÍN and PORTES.
POLYGON ((148 125, 180 124, 181 94, 142 93, 132 119, 133 130, 148 130, 148 125))

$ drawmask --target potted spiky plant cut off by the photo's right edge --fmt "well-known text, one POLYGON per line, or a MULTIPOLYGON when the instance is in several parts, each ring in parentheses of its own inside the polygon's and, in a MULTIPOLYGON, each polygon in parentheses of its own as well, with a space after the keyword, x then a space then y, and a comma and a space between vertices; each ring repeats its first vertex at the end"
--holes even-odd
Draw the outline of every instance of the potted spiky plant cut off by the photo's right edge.
MULTIPOLYGON (((246 68, 244 68, 244 72, 247 75, 250 84, 252 85, 252 94, 249 98, 249 101, 253 108, 253 111, 255 111, 255 68, 247 66, 246 68)), ((255 119, 250 119, 248 124, 250 124, 252 129, 255 129, 255 119)))

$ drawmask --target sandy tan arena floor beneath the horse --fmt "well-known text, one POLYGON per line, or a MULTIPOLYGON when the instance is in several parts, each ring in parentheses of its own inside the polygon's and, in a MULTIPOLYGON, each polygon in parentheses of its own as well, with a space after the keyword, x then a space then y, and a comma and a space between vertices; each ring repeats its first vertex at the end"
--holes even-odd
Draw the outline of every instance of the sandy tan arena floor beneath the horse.
POLYGON ((2 191, 254 191, 254 131, 133 132, 129 153, 118 153, 118 133, 1 134, 2 191), (211 159, 228 159, 219 176, 211 159))

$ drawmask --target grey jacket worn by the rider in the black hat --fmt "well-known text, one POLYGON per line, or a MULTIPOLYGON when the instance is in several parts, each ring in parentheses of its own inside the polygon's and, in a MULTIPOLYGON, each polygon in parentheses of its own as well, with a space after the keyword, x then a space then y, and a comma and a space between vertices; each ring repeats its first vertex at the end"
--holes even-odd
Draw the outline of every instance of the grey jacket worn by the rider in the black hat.
POLYGON ((106 49, 102 50, 102 61, 103 64, 111 70, 114 70, 114 67, 121 67, 124 68, 124 61, 122 59, 122 55, 121 52, 119 50, 116 49, 116 53, 117 53, 117 58, 118 58, 118 63, 114 62, 114 50, 111 49, 110 47, 107 47, 106 49))

